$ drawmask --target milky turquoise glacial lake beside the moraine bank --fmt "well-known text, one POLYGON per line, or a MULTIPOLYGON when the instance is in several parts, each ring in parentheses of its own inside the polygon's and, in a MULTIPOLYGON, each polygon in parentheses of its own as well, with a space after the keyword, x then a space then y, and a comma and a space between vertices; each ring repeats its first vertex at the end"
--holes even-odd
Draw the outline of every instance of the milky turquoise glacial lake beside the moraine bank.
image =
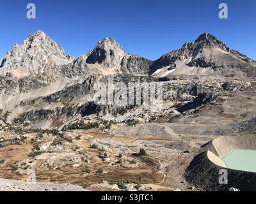
POLYGON ((256 172, 256 150, 234 150, 222 160, 227 168, 256 172))

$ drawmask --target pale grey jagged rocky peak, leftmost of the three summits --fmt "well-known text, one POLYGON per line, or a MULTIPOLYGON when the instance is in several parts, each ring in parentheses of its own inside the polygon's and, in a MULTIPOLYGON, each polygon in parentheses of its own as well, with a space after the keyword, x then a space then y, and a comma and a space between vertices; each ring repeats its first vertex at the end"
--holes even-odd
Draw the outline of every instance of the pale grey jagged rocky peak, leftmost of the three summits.
POLYGON ((21 45, 15 44, 13 50, 6 54, 0 65, 0 74, 24 77, 43 73, 72 60, 47 34, 37 31, 29 34, 21 45))

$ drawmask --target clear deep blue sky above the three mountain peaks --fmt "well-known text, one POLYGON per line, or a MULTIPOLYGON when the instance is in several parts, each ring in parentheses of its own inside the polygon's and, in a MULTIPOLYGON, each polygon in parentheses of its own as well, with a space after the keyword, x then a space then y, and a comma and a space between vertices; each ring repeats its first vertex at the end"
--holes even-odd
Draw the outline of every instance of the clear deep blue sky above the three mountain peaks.
POLYGON ((0 58, 29 33, 42 30, 78 57, 105 37, 130 54, 157 59, 211 33, 228 47, 256 59, 255 0, 1 0, 0 58), (26 5, 36 4, 36 19, 26 5), (218 5, 228 4, 228 20, 218 5))

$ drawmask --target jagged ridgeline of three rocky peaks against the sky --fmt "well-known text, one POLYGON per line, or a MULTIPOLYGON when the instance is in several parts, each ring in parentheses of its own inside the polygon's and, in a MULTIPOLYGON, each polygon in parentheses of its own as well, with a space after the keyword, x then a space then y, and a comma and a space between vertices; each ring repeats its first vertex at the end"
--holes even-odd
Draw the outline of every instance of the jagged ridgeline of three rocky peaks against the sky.
POLYGON ((256 62, 231 50, 211 34, 204 33, 195 43, 185 43, 182 48, 164 54, 156 61, 138 55, 127 54, 124 48, 111 38, 97 43, 92 52, 78 59, 64 53, 63 48, 44 32, 30 34, 22 45, 15 45, 0 63, 0 74, 9 77, 51 73, 61 66, 83 66, 96 69, 103 75, 131 73, 149 74, 155 77, 171 75, 205 75, 237 77, 255 75, 256 62), (83 62, 81 62, 83 61, 83 62))

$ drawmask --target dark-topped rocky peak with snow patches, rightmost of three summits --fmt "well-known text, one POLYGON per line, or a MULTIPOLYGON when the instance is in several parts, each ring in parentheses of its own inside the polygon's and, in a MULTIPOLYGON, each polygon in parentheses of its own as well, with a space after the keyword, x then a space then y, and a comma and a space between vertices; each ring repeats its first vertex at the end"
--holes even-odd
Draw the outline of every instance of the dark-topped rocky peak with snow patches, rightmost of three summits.
POLYGON ((170 75, 207 75, 215 77, 254 75, 256 62, 230 50, 212 34, 201 34, 195 43, 164 54, 150 67, 156 77, 170 75))

